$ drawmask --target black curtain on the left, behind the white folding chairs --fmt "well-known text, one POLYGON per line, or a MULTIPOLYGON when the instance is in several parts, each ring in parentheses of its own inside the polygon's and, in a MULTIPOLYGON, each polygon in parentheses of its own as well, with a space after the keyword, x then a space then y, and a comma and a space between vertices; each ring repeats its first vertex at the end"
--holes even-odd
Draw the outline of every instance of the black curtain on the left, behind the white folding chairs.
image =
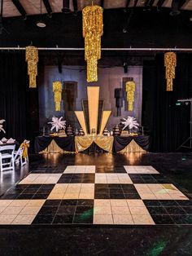
POLYGON ((0 53, 0 119, 5 119, 2 137, 21 143, 38 130, 37 89, 28 88, 28 70, 24 52, 0 53))

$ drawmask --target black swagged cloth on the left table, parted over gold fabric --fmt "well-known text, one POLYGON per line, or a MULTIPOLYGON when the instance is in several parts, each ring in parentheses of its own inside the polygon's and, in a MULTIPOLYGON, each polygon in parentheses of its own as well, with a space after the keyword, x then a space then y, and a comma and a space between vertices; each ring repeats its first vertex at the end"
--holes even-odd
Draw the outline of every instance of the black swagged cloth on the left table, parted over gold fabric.
POLYGON ((55 140, 55 143, 67 152, 75 152, 75 137, 50 137, 50 136, 37 136, 35 138, 35 152, 41 152, 45 150, 52 140, 55 140))

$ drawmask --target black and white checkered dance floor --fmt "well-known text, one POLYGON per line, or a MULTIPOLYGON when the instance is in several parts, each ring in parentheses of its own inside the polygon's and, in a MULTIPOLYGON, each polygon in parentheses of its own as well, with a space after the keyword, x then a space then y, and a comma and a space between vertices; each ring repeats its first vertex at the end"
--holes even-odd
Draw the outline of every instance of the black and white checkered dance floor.
POLYGON ((37 170, 0 198, 0 224, 192 224, 192 201, 152 166, 37 170))

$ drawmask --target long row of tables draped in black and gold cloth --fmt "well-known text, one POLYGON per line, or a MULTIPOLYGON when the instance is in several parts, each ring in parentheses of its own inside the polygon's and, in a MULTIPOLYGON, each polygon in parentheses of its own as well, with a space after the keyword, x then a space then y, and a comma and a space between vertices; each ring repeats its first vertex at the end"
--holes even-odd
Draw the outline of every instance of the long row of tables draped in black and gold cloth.
POLYGON ((84 152, 95 143, 105 152, 146 152, 149 148, 149 136, 103 136, 85 135, 69 137, 37 136, 35 152, 41 153, 78 153, 84 152))

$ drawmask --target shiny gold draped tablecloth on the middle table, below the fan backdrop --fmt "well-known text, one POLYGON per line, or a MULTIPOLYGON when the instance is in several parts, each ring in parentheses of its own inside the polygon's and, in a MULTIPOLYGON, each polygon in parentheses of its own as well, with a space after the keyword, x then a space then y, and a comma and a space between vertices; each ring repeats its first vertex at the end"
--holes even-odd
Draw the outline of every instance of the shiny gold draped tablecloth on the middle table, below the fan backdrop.
POLYGON ((76 136, 76 152, 82 152, 90 147, 92 143, 96 143, 99 148, 107 152, 112 152, 113 146, 113 136, 103 136, 103 135, 85 135, 76 136))

